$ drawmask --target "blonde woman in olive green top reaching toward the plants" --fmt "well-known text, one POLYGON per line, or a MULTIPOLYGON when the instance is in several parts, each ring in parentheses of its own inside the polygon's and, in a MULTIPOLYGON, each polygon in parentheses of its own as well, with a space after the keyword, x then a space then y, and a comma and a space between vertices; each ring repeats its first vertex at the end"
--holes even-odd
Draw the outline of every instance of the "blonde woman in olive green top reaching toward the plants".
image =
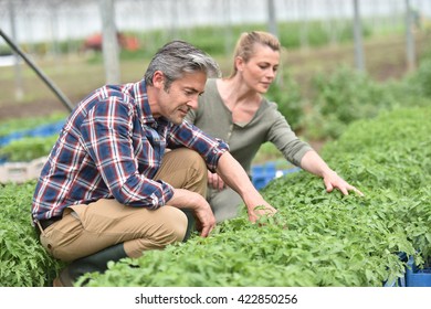
MULTIPOLYGON (((262 143, 273 142, 293 164, 323 178, 326 190, 334 188, 362 193, 333 171, 312 147, 292 131, 275 103, 263 95, 275 79, 281 44, 266 32, 243 33, 234 50, 233 72, 227 78, 208 79, 199 108, 186 119, 229 143, 232 156, 250 173, 251 162, 262 143)), ((235 217, 241 198, 227 188, 217 173, 208 172, 207 199, 218 222, 235 217)))

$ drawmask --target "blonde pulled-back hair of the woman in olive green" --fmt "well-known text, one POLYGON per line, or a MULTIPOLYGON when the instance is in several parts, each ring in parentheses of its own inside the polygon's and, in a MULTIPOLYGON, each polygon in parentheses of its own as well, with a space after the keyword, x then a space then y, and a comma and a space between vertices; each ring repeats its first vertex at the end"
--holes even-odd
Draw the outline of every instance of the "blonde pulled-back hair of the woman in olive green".
POLYGON ((242 57, 242 60, 246 63, 254 54, 254 45, 261 44, 263 46, 269 46, 275 52, 280 52, 281 44, 278 39, 264 31, 252 31, 252 32, 243 32, 240 35, 240 39, 236 42, 236 46, 233 51, 233 71, 229 78, 236 75, 236 66, 235 58, 238 56, 242 57))

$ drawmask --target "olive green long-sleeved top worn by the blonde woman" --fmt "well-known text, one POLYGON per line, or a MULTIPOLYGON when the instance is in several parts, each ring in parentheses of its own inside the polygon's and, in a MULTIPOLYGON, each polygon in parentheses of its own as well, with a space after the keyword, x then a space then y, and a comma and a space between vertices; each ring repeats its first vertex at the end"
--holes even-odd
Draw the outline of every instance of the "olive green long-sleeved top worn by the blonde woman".
POLYGON ((312 147, 299 140, 277 105, 263 98, 254 117, 248 124, 234 124, 232 113, 223 104, 216 79, 207 82, 199 97, 199 108, 190 110, 187 121, 229 143, 231 154, 250 173, 251 162, 262 143, 271 141, 287 161, 301 167, 301 160, 312 147))

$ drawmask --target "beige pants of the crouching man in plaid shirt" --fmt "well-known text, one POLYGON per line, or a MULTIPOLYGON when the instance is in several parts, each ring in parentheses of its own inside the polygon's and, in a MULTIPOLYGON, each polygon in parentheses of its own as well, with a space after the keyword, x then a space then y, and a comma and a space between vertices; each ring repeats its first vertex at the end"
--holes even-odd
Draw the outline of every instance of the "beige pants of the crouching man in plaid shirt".
MULTIPOLYGON (((167 152, 155 179, 206 196, 207 167, 192 150, 167 152)), ((182 241, 187 224, 185 213, 169 205, 151 211, 123 205, 116 200, 99 200, 65 209, 63 219, 43 231, 41 243, 52 256, 64 262, 118 243, 124 243, 127 256, 139 257, 145 251, 182 241)))

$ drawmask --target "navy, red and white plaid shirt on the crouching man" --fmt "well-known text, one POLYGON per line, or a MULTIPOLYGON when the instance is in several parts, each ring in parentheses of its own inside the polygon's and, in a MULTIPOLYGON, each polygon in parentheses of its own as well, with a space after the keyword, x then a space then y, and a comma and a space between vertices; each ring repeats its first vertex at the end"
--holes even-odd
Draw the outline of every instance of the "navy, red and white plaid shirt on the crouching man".
POLYGON ((177 126, 151 115, 144 81, 104 86, 67 118, 35 188, 34 220, 59 216, 64 207, 116 199, 157 209, 174 190, 153 180, 166 148, 199 152, 214 170, 228 146, 183 121, 177 126))

